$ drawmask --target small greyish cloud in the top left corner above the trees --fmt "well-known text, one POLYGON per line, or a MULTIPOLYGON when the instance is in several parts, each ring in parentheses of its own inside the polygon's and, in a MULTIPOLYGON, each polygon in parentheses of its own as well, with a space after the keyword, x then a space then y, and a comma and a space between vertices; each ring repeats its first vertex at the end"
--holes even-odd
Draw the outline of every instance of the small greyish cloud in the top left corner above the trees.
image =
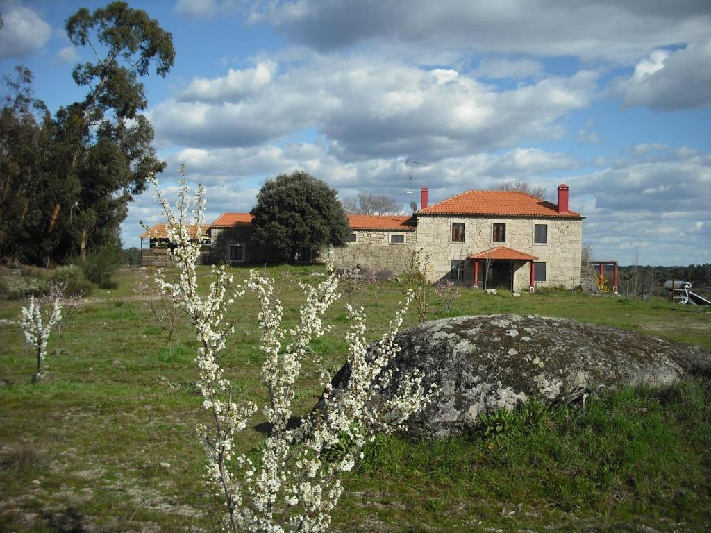
POLYGON ((4 26, 0 28, 0 58, 22 58, 46 45, 52 30, 36 11, 24 6, 0 5, 4 26))

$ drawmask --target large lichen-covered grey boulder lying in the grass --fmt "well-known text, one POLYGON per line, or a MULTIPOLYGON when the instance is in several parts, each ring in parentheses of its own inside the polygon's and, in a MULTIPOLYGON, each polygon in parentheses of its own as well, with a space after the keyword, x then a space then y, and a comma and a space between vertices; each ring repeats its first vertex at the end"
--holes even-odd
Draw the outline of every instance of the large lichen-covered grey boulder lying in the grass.
MULTIPOLYGON (((599 387, 663 386, 688 372, 711 373, 711 352, 697 346, 566 318, 444 318, 400 333, 397 343, 393 382, 418 368, 424 387, 439 388, 408 422, 413 436, 456 434, 476 425, 482 412, 513 409, 531 397, 565 402, 599 387)), ((334 388, 349 374, 343 367, 334 388)))

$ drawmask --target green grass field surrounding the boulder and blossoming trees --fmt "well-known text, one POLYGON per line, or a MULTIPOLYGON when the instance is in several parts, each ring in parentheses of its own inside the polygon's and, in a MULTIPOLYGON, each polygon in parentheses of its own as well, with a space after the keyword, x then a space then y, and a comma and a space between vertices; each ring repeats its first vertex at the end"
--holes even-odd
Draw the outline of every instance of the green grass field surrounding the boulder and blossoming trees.
MULTIPOLYGON (((233 269, 237 280, 246 269, 233 269)), ((268 269, 287 320, 298 313, 297 281, 318 266, 268 269)), ((208 274, 201 270, 203 281, 208 274)), ((0 324, 0 531, 213 531, 218 502, 205 490, 203 420, 194 382, 196 343, 185 323, 166 336, 132 286, 146 271, 125 270, 117 289, 98 290, 67 311, 49 344, 49 375, 36 366, 18 325, 0 324)), ((395 282, 360 301, 377 338, 397 309, 395 282)), ((20 302, 0 301, 16 320, 20 302)), ((232 308, 237 331, 224 359, 237 392, 264 399, 256 301, 232 308)), ((711 313, 646 302, 549 291, 491 296, 463 291, 451 315, 520 313, 577 318, 711 348, 711 313)), ((433 302, 429 318, 444 316, 433 302)), ((343 301, 333 329, 314 350, 338 368, 348 328, 343 301)), ((415 322, 407 317, 406 325, 415 322)), ((307 367, 298 409, 321 392, 307 367)), ((511 429, 466 438, 405 442, 379 438, 345 480, 336 531, 702 531, 711 529, 711 386, 687 379, 671 389, 597 397, 585 413, 558 408, 534 419, 513 414, 511 429)), ((240 445, 264 439, 259 419, 240 445)))

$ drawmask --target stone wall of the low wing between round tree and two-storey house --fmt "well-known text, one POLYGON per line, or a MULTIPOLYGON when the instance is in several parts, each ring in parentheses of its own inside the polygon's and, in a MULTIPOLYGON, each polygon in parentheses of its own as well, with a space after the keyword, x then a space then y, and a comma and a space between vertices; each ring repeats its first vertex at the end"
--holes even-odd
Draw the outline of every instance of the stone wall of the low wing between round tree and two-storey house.
POLYGON ((393 269, 401 271, 410 259, 417 243, 415 231, 403 230, 353 230, 355 242, 346 247, 331 247, 328 257, 337 267, 360 265, 364 269, 393 269), (391 243, 390 235, 403 235, 405 242, 391 243))

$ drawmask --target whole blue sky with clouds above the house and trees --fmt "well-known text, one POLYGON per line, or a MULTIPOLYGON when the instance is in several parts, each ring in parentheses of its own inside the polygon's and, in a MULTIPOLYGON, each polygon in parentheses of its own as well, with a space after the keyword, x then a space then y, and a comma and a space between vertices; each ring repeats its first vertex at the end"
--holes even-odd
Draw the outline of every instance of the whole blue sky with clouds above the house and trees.
MULTIPOLYGON (((65 20, 104 2, 0 1, 3 74, 50 109, 82 99, 65 20)), ((208 187, 208 220, 303 168, 342 198, 430 202, 501 181, 570 185, 594 257, 711 262, 711 4, 700 1, 131 2, 173 34, 144 79, 155 146, 208 187)), ((122 225, 159 222, 148 193, 122 225)))

